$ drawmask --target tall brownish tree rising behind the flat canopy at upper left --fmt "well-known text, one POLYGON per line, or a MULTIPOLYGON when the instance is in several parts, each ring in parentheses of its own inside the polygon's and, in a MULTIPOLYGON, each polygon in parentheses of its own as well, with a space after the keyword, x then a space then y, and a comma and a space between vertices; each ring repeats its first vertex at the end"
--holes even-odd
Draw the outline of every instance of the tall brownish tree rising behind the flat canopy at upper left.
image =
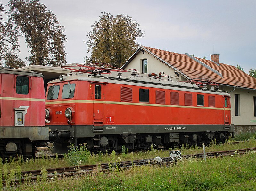
MULTIPOLYGON (((52 11, 47 11, 39 0, 10 0, 7 26, 9 36, 18 44, 19 36, 25 36, 30 48, 30 64, 59 66, 66 63, 64 26, 52 11)), ((17 45, 18 46, 18 45, 17 45)))

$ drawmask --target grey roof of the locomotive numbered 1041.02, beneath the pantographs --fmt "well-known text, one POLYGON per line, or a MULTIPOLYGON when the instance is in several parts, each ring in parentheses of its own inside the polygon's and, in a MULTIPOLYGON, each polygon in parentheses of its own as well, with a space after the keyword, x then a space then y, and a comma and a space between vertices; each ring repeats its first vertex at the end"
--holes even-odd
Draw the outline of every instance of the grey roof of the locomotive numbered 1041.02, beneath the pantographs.
MULTIPOLYGON (((64 80, 62 82, 67 81, 92 81, 92 82, 103 82, 103 83, 114 83, 114 84, 124 84, 124 85, 135 85, 135 86, 143 86, 143 87, 153 87, 153 88, 164 88, 164 89, 172 89, 179 91, 189 91, 191 92, 204 92, 211 94, 221 94, 221 95, 229 95, 226 91, 212 90, 212 89, 204 89, 199 88, 196 84, 186 83, 186 82, 175 82, 168 81, 162 79, 154 79, 153 77, 142 77, 142 76, 130 76, 130 77, 110 77, 110 76, 99 76, 92 74, 84 74, 84 73, 73 73, 70 76, 63 76, 64 80)), ((49 84, 60 83, 59 79, 50 81, 49 84)))

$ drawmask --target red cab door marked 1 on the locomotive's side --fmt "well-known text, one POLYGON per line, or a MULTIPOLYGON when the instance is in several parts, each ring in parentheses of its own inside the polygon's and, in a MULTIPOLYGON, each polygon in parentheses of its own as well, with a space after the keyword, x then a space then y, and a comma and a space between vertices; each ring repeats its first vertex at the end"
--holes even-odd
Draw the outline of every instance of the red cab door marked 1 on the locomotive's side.
POLYGON ((94 84, 93 119, 102 120, 103 117, 103 84, 94 84))

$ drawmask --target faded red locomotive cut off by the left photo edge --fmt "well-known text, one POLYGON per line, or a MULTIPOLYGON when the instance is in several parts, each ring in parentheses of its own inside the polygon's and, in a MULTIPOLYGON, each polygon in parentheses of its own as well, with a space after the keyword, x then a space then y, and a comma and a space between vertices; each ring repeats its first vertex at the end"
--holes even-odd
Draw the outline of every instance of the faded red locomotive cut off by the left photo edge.
POLYGON ((0 153, 32 157, 49 140, 43 75, 0 67, 0 153))

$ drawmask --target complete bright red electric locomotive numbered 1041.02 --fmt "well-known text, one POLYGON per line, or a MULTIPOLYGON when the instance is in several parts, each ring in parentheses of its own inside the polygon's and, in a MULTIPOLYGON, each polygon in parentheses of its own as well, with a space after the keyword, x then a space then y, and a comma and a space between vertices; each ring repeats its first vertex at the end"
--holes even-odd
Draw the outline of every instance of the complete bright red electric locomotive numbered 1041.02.
POLYGON ((103 151, 122 145, 131 150, 201 145, 224 142, 234 132, 225 91, 154 74, 133 71, 122 77, 126 71, 78 66, 48 83, 46 119, 57 139, 55 151, 85 142, 90 150, 103 151))

